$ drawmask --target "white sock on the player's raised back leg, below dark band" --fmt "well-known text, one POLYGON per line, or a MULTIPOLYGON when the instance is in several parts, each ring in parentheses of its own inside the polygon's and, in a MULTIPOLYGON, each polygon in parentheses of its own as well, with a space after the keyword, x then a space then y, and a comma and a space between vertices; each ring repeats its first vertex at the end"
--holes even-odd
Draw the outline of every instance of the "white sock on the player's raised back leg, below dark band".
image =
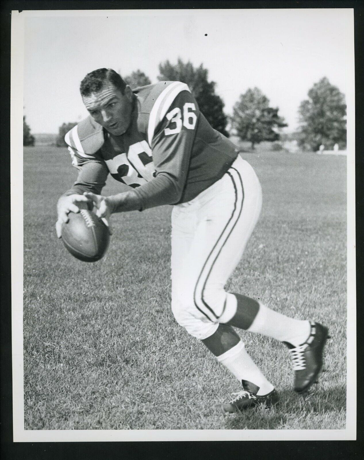
POLYGON ((281 342, 289 342, 295 347, 302 345, 311 333, 309 321, 302 321, 282 315, 263 304, 248 328, 249 332, 267 335, 281 342))

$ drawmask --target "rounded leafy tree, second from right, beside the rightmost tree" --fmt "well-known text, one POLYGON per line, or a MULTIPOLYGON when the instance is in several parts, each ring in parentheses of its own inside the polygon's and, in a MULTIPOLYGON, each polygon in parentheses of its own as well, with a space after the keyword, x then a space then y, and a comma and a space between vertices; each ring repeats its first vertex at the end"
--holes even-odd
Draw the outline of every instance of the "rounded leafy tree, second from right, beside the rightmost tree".
POLYGON ((239 138, 252 143, 254 150, 255 144, 262 141, 279 140, 276 129, 288 126, 278 115, 278 110, 269 107, 269 99, 259 88, 249 88, 234 104, 231 125, 239 138))

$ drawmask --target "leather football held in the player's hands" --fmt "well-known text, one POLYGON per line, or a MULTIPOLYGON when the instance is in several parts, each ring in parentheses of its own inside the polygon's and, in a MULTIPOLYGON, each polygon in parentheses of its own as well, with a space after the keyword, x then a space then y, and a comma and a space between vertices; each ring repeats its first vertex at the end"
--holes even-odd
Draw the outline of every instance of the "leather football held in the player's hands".
POLYGON ((110 242, 107 225, 87 209, 69 213, 68 217, 69 221, 62 226, 66 249, 83 262, 96 262, 104 257, 110 242))

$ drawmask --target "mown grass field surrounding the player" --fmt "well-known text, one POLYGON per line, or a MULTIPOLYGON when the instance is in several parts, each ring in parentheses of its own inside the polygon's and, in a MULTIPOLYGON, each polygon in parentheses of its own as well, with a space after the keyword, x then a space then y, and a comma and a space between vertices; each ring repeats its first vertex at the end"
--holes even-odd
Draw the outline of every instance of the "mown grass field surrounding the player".
MULTIPOLYGON (((170 207, 114 216, 104 259, 55 236, 77 171, 66 149, 24 149, 26 429, 342 429, 346 420, 346 158, 244 154, 263 211, 228 289, 329 326, 325 371, 303 400, 286 348, 239 332, 281 403, 223 416, 238 382, 170 311, 170 207)), ((105 194, 120 190, 113 179, 105 194)))

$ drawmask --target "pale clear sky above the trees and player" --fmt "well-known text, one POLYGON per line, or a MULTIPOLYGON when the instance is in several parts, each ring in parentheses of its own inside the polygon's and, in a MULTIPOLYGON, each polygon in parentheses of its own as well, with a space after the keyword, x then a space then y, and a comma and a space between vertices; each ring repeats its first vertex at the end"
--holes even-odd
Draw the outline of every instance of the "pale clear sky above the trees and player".
POLYGON ((33 133, 86 117, 79 84, 101 67, 121 75, 140 69, 156 82, 167 59, 202 63, 226 114, 257 86, 279 107, 287 132, 297 128, 313 83, 326 76, 344 94, 352 87, 349 8, 24 13, 24 113, 33 133))

